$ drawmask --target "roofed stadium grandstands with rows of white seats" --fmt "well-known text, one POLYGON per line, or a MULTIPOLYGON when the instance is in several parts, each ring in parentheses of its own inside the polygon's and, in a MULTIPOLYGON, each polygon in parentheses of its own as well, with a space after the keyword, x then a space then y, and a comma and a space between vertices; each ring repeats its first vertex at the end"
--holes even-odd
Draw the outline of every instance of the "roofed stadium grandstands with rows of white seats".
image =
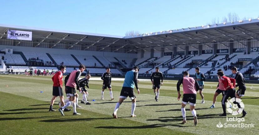
POLYGON ((0 24, 0 70, 7 69, 3 64, 25 66, 30 58, 38 58, 43 64, 35 67, 84 64, 112 67, 123 74, 120 68, 137 65, 142 68, 140 74, 149 75, 158 66, 167 75, 180 75, 183 69, 192 75, 198 66, 206 75, 215 76, 220 68, 230 75, 229 66, 236 66, 249 77, 257 77, 258 32, 259 19, 125 37, 0 24), (32 40, 9 39, 8 30, 31 31, 32 40))

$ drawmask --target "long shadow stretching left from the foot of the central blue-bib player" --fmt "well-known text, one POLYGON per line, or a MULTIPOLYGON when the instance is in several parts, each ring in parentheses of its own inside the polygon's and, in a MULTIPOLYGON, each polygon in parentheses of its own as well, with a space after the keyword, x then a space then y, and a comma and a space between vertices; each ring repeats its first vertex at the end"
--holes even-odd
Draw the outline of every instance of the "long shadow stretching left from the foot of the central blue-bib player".
POLYGON ((111 118, 47 119, 47 120, 40 120, 39 122, 78 122, 78 121, 93 121, 97 119, 106 120, 106 119, 114 119, 114 118, 111 117, 111 118))

